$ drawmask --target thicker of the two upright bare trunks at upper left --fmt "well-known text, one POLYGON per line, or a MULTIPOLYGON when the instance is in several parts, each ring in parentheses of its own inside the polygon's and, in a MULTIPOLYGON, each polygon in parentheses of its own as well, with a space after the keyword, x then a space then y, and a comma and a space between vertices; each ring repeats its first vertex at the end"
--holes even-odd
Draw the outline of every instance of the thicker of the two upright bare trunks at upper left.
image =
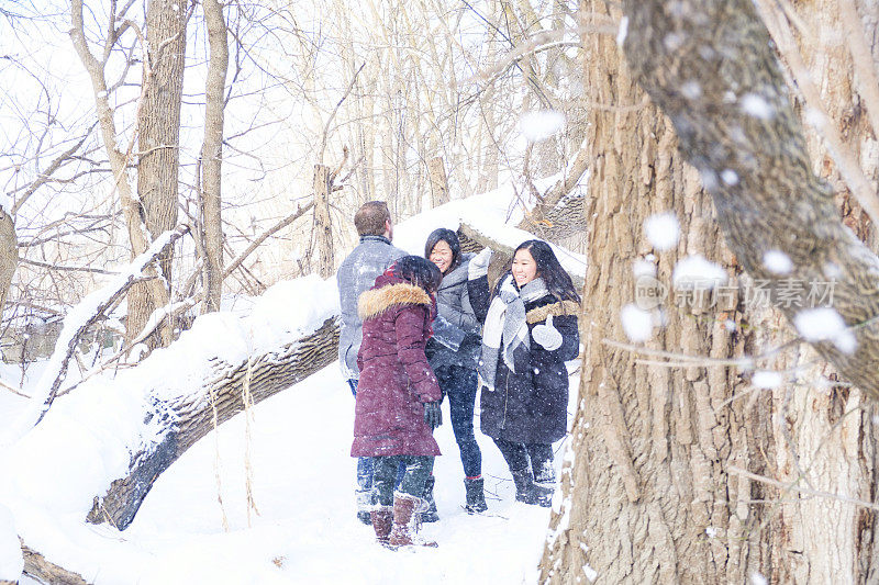
MULTIPOLYGON (((143 221, 152 237, 177 224, 177 173, 180 160, 180 105, 183 95, 186 24, 189 11, 180 0, 149 0, 146 10, 146 41, 149 67, 145 69, 143 105, 138 112, 137 196, 143 221)), ((135 285, 129 294, 125 335, 134 339, 149 315, 167 303, 171 281, 168 250, 159 259, 165 278, 160 297, 151 294, 146 284, 135 285)), ((170 342, 170 328, 164 327, 160 339, 147 345, 170 342)))

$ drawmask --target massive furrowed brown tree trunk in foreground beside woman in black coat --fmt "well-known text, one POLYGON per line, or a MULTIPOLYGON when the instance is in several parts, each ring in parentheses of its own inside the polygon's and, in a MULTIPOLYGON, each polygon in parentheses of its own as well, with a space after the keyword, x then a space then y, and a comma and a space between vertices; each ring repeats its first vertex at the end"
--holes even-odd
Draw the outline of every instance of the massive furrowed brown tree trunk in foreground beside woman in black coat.
MULTIPOLYGON (((610 5, 583 0, 583 24, 592 13, 619 19, 610 5)), ((553 515, 539 582, 744 583, 749 559, 742 550, 757 537, 753 520, 736 511, 754 494, 747 483, 727 485, 724 464, 749 460, 749 435, 768 424, 764 397, 723 408, 738 385, 733 369, 638 364, 632 352, 603 341, 626 340, 620 315, 634 301, 636 261, 654 265, 668 282, 687 254, 722 265, 732 257, 710 221, 698 175, 677 153, 670 122, 643 104, 614 38, 585 36, 583 47, 587 99, 604 104, 590 109, 586 140, 585 355, 561 476, 566 497, 553 515), (666 212, 687 237, 659 252, 642 226, 666 212)), ((734 305, 723 307, 725 316, 698 303, 663 308, 666 326, 650 347, 715 358, 743 350, 743 339, 724 327, 725 317, 736 319, 734 305)))

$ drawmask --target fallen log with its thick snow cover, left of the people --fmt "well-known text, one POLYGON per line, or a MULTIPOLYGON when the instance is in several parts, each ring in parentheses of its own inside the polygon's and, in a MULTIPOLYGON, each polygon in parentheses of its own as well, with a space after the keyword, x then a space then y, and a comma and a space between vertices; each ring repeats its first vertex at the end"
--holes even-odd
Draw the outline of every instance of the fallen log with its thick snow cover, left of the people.
MULTIPOLYGON (((314 275, 199 316, 136 367, 58 396, 0 450, 0 502, 124 529, 156 477, 214 428, 214 405, 218 425, 243 409, 248 363, 255 404, 336 359, 337 316, 335 279, 314 275)), ((44 527, 23 521, 18 533, 42 547, 44 527)))

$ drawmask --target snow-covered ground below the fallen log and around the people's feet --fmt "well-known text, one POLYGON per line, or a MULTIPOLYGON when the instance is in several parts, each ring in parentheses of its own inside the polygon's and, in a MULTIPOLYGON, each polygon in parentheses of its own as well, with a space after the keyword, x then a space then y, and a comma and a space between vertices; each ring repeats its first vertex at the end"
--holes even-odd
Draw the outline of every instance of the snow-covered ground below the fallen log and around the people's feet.
MULTIPOLYGON (((572 376, 572 395, 576 383, 572 376)), ((513 500, 500 453, 477 432, 490 515, 464 511, 447 403, 436 431, 443 451, 435 466, 441 521, 424 527, 439 547, 392 552, 378 545, 372 529, 354 514, 353 406, 331 364, 256 405, 249 432, 238 415, 187 451, 158 479, 124 532, 85 524, 81 516, 30 509, 23 518, 36 538, 30 544, 89 582, 107 584, 535 581, 549 510, 513 500), (258 509, 249 520, 247 462, 258 509)), ((558 452, 557 465, 561 459, 558 452)))

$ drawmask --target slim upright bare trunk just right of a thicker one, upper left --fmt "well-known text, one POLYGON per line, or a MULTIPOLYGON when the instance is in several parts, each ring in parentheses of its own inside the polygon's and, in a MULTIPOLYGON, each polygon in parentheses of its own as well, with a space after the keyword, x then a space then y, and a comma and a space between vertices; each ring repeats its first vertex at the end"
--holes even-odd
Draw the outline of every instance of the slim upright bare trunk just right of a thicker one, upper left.
POLYGON ((204 0, 210 61, 208 64, 207 102, 204 108, 204 144, 202 146, 202 226, 204 229, 205 312, 219 311, 223 294, 222 164, 225 82, 229 68, 229 45, 223 5, 204 0))

